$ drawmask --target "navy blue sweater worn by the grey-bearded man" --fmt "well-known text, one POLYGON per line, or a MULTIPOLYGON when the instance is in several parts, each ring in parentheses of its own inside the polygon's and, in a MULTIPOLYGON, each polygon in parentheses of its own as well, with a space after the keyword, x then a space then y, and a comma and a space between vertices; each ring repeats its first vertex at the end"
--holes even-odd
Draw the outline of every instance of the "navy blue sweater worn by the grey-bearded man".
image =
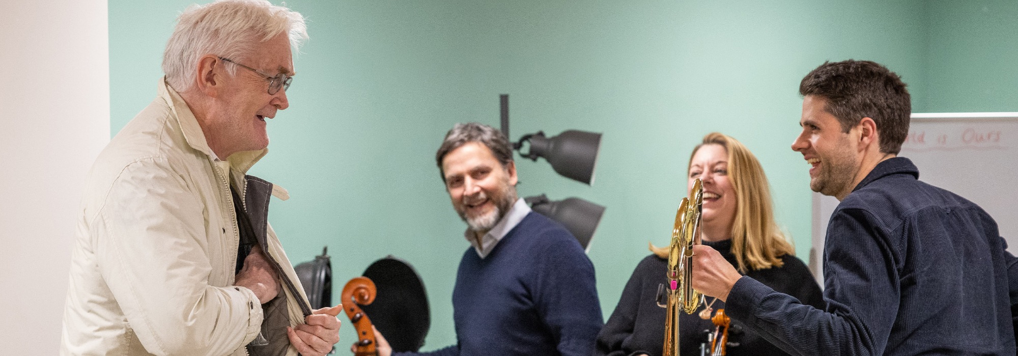
POLYGON ((590 259, 532 212, 486 258, 463 252, 452 304, 458 345, 426 354, 588 356, 604 323, 590 259))

